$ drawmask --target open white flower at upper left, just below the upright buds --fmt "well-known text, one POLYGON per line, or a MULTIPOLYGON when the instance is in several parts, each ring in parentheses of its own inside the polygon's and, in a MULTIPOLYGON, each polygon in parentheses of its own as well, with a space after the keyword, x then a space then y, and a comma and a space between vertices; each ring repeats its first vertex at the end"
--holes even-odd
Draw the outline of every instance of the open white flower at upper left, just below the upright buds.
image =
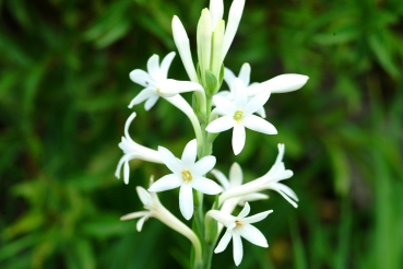
POLYGON ((175 52, 168 54, 159 66, 159 57, 153 55, 147 61, 147 71, 134 69, 129 77, 145 89, 141 91, 129 104, 129 108, 145 101, 144 108, 149 110, 162 97, 171 97, 182 92, 203 91, 199 83, 168 79, 168 69, 175 52))

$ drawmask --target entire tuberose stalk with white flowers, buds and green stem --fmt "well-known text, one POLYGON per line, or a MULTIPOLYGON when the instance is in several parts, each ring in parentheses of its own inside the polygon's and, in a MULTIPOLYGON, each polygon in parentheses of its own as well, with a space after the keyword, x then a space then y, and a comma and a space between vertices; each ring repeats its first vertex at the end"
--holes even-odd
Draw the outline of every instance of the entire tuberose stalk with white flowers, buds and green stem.
POLYGON ((269 198, 262 191, 274 190, 294 207, 297 207, 298 201, 295 192, 280 183, 293 176, 293 172, 286 169, 283 163, 284 144, 278 144, 277 159, 269 172, 253 180, 244 183, 242 169, 237 163, 232 165, 228 177, 214 168, 216 157, 212 155, 212 149, 220 132, 233 129, 232 151, 235 155, 242 151, 247 142, 245 128, 276 134, 277 129, 265 119, 265 103, 272 93, 296 91, 308 80, 308 77, 301 74, 281 74, 261 83, 250 83, 251 68, 248 63, 242 65, 238 77, 224 67, 244 5, 245 0, 234 0, 227 22, 223 20, 223 0, 211 0, 210 8, 201 12, 197 30, 197 66, 193 65, 187 32, 180 20, 174 16, 174 40, 189 81, 168 79, 168 70, 176 55, 174 51, 165 56, 161 63, 159 57, 153 55, 146 63, 146 71, 134 69, 129 75, 143 87, 130 102, 129 108, 145 102, 144 108, 150 110, 162 97, 189 118, 195 139, 185 145, 180 159, 162 145, 157 150, 141 145, 129 134, 129 127, 137 116, 132 113, 119 143, 123 156, 115 175, 119 178, 123 169, 123 180, 129 184, 129 162, 134 159, 164 164, 171 173, 155 183, 151 180, 147 190, 138 186, 138 195, 146 210, 123 215, 121 220, 140 218, 137 225, 140 232, 144 222, 153 217, 189 238, 194 250, 192 268, 210 268, 211 254, 223 252, 230 239, 237 266, 244 256, 241 237, 261 247, 269 246, 264 235, 251 224, 265 219, 273 210, 247 218, 250 212, 249 202, 269 198), (228 90, 220 91, 224 81, 228 90), (181 95, 187 92, 193 93, 192 105, 181 95), (220 184, 208 178, 209 173, 220 184), (157 192, 175 188, 179 188, 179 209, 183 219, 193 219, 195 222, 193 230, 173 215, 158 200, 157 192), (203 211, 203 195, 215 196, 215 202, 208 212, 203 211), (244 209, 234 217, 233 212, 238 206, 244 209), (224 227, 226 232, 218 242, 224 227))

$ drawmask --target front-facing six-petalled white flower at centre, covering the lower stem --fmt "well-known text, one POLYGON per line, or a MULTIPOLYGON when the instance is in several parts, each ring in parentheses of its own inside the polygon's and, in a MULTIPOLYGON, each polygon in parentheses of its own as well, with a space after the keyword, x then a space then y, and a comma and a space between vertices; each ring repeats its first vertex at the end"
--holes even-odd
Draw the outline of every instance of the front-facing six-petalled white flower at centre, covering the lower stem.
POLYGON ((162 160, 173 174, 162 177, 149 188, 150 191, 164 191, 180 186, 179 209, 187 220, 193 215, 193 188, 206 195, 217 195, 223 190, 203 176, 214 167, 215 156, 204 156, 195 162, 197 148, 195 139, 191 140, 186 145, 181 160, 178 160, 169 150, 158 147, 162 160))

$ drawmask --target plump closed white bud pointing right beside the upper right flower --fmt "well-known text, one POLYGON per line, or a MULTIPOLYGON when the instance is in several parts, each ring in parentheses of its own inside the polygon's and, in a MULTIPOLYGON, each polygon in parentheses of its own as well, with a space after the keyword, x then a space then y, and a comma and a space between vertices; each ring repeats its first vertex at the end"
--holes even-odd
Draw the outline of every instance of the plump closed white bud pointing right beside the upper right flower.
POLYGON ((272 93, 286 93, 299 90, 308 81, 307 75, 286 73, 274 77, 271 80, 262 82, 261 85, 264 89, 270 90, 272 93))

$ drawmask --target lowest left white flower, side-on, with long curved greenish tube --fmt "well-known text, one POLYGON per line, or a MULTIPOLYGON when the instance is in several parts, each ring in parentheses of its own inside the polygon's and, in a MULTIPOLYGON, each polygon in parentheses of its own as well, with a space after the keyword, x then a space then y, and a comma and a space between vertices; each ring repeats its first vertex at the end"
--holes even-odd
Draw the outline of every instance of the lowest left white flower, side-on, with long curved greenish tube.
MULTIPOLYGON (((153 177, 151 177, 151 183, 153 182, 153 177)), ((165 225, 175 230, 176 232, 182 234, 188 237, 188 239, 193 244, 195 259, 201 260, 201 244, 198 236, 194 234, 192 230, 190 230, 186 224, 179 221, 173 213, 170 213, 161 202, 155 192, 149 192, 143 187, 138 186, 137 191, 141 202, 144 204, 144 209, 146 211, 133 212, 130 214, 126 214, 120 218, 121 221, 127 221, 131 219, 140 220, 137 223, 137 229, 141 232, 144 222, 149 218, 158 219, 165 225)))

